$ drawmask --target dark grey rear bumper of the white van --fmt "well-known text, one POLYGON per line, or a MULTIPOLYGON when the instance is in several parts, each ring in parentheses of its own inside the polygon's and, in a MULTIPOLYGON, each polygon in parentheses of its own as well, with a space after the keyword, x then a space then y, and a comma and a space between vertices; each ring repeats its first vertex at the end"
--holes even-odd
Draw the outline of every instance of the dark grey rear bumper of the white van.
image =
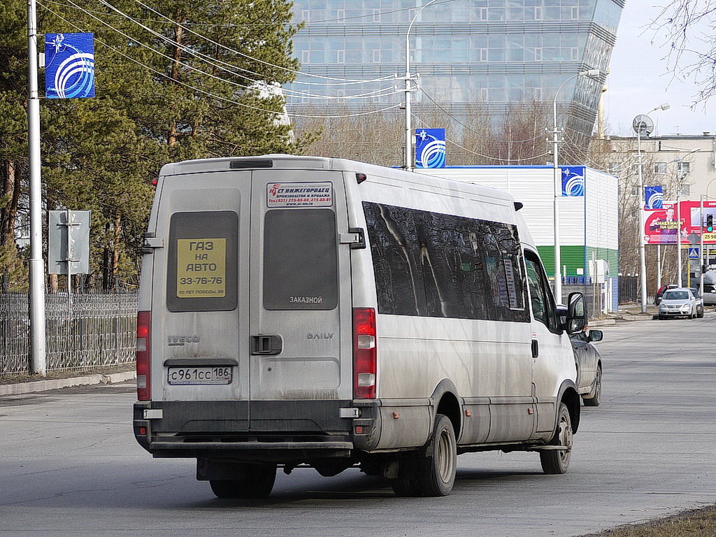
POLYGON ((379 430, 372 409, 340 417, 351 400, 136 402, 137 442, 155 457, 296 460, 349 457, 367 436, 354 422, 379 430), (145 411, 152 410, 145 417, 145 411), (155 412, 160 410, 161 412, 155 412), (159 417, 159 415, 161 417, 159 417), (354 441, 355 440, 355 441, 354 441))

